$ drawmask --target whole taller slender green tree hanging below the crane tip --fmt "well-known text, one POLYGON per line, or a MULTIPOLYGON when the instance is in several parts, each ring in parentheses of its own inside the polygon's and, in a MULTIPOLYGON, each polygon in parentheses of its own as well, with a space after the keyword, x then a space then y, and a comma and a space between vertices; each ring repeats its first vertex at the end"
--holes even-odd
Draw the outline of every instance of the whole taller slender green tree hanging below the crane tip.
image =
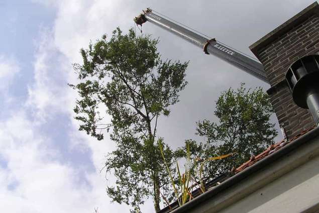
MULTIPOLYGON (((81 82, 71 85, 79 93, 74 112, 82 122, 79 130, 103 139, 103 130, 113 130, 111 139, 117 149, 109 153, 105 167, 117 178, 107 193, 118 203, 133 206, 152 196, 160 210, 160 188, 170 199, 169 177, 155 139, 158 117, 169 116, 170 105, 179 101, 185 87, 188 62, 162 61, 158 40, 149 35, 127 35, 117 28, 108 41, 106 36, 81 49, 83 64, 74 64, 81 82), (112 116, 105 123, 100 112, 112 116)), ((165 145, 165 157, 172 163, 173 154, 165 145)))

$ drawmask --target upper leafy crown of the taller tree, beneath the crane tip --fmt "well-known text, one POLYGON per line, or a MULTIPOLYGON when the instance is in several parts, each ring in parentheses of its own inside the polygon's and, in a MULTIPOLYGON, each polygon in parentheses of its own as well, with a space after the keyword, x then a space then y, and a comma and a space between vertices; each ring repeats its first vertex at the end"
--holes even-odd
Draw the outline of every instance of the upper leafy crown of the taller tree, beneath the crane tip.
POLYGON ((163 62, 157 43, 148 35, 136 36, 132 29, 123 35, 118 28, 109 41, 103 35, 81 49, 83 64, 73 67, 82 82, 70 84, 80 96, 74 112, 79 115, 75 119, 85 123, 81 130, 103 138, 97 109, 104 106, 115 129, 133 128, 136 133, 150 129, 156 116, 169 115, 168 107, 178 102, 178 92, 187 84, 188 62, 163 62))

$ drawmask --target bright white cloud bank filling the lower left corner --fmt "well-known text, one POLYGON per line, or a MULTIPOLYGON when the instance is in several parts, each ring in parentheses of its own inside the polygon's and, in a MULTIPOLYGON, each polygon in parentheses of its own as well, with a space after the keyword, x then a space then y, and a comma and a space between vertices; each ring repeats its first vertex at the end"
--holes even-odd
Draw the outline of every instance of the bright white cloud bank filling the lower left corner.
POLYGON ((0 123, 0 156, 7 162, 0 167, 2 210, 93 212, 96 206, 110 212, 128 210, 126 206, 110 206, 102 175, 94 172, 82 177, 78 168, 55 160, 58 150, 49 148, 50 139, 37 129, 24 112, 0 123), (78 184, 79 178, 86 178, 89 185, 78 184))

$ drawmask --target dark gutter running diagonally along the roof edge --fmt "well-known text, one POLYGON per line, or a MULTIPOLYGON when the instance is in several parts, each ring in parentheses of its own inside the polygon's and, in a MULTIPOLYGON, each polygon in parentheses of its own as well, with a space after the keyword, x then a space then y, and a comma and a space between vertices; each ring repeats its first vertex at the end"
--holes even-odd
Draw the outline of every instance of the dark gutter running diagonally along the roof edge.
MULTIPOLYGON (((301 146, 306 144, 309 140, 316 138, 319 135, 319 128, 315 128, 305 135, 297 138, 296 140, 288 143, 286 146, 282 147, 278 151, 268 155, 264 159, 258 161, 250 167, 247 167, 245 170, 237 173, 236 175, 225 180, 221 184, 217 185, 214 189, 208 190, 207 192, 199 195, 193 200, 185 203, 184 205, 171 211, 172 213, 180 212, 189 212, 192 208, 204 203, 205 201, 211 199, 212 197, 218 195, 221 192, 224 192, 226 189, 240 184, 242 180, 251 176, 261 169, 265 169, 269 164, 277 161, 279 158, 286 156, 288 153, 296 150, 297 148, 302 148, 301 146)), ((310 142, 311 144, 311 142, 310 142)))

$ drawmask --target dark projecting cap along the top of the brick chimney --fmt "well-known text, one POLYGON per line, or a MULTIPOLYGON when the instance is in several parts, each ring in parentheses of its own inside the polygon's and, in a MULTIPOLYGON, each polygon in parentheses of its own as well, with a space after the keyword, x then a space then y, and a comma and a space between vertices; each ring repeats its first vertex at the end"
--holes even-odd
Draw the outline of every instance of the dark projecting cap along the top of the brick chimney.
POLYGON ((308 19, 309 17, 313 15, 319 16, 319 5, 317 2, 314 2, 304 10, 302 10, 300 13, 259 39, 257 42, 252 44, 249 48, 250 50, 257 56, 257 52, 259 49, 265 47, 266 45, 270 44, 271 42, 275 41, 278 37, 282 36, 289 30, 291 30, 293 27, 299 25, 304 20, 308 19))

